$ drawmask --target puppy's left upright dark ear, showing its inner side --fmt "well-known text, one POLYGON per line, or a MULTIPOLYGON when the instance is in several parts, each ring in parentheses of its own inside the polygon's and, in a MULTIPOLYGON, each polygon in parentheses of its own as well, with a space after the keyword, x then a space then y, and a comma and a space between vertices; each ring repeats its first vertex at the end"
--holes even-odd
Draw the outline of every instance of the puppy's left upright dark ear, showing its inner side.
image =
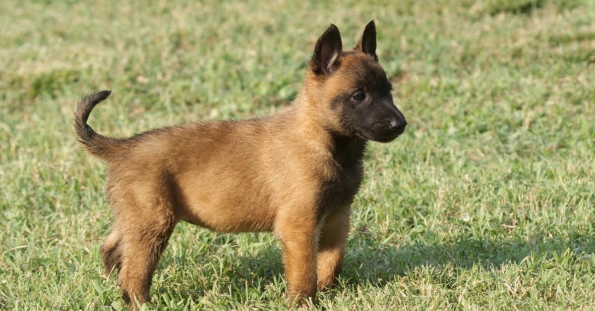
POLYGON ((335 71, 340 64, 342 49, 339 29, 337 26, 331 24, 316 42, 314 55, 312 55, 310 61, 312 71, 317 76, 330 74, 335 71))

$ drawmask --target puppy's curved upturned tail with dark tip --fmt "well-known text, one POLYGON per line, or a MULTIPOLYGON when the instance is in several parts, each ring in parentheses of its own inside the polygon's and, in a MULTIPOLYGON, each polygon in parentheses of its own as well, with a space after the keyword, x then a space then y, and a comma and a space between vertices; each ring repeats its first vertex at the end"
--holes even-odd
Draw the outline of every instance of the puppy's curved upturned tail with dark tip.
POLYGON ((74 112, 74 130, 77 140, 89 153, 104 160, 111 158, 114 145, 118 143, 118 140, 96 133, 93 128, 87 125, 87 120, 89 120, 89 115, 95 105, 108 98, 109 94, 111 91, 101 91, 84 96, 74 112))

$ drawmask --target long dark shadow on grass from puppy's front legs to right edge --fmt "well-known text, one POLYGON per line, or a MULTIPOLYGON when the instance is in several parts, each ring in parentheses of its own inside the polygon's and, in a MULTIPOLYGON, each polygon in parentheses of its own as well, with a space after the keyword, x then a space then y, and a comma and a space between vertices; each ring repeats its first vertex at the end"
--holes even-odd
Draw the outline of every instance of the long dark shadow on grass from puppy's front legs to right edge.
MULTIPOLYGON (((405 277, 422 267, 500 269, 512 263, 547 262, 570 252, 574 255, 595 253, 595 240, 581 234, 564 237, 534 236, 497 240, 461 236, 452 242, 437 244, 406 244, 404 246, 369 245, 366 240, 353 239, 347 250, 342 278, 346 284, 371 284, 382 287, 394 277, 405 277)), ((576 257, 576 256, 575 256, 576 257)))

